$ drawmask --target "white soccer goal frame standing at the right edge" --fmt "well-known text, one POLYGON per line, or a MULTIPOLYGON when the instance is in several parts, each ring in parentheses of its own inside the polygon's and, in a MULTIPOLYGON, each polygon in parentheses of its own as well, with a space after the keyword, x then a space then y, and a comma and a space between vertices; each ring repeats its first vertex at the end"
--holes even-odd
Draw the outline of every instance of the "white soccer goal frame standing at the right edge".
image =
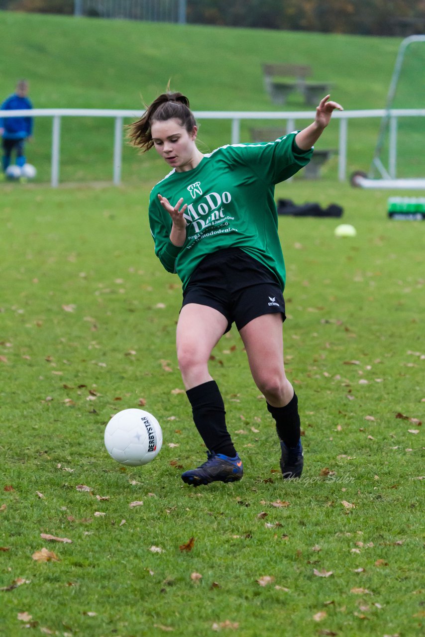
MULTIPOLYGON (((425 35, 414 35, 403 39, 398 50, 396 63, 394 66, 393 77, 389 85, 387 101, 385 105, 385 114, 380 123, 377 145, 368 174, 357 172, 352 175, 351 183, 361 188, 380 188, 380 189, 403 189, 403 190, 422 190, 425 189, 424 178, 396 178, 396 143, 397 143, 397 116, 401 114, 400 109, 392 109, 398 80, 400 78, 401 68, 405 59, 407 48, 413 43, 422 42, 425 47, 425 35), (389 136, 389 159, 388 166, 382 162, 382 148, 384 147, 385 136, 389 136), (375 175, 378 173, 378 178, 375 175)), ((425 115, 425 109, 416 109, 410 111, 410 115, 425 115)))

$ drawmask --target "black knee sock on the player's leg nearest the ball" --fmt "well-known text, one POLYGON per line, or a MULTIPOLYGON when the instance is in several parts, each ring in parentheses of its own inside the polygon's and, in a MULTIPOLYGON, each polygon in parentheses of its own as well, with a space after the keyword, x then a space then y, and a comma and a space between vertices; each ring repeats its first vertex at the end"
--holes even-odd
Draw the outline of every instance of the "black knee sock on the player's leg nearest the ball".
POLYGON ((215 380, 188 389, 187 397, 192 405, 193 420, 205 442, 206 448, 215 454, 234 457, 236 449, 226 427, 226 411, 215 380))

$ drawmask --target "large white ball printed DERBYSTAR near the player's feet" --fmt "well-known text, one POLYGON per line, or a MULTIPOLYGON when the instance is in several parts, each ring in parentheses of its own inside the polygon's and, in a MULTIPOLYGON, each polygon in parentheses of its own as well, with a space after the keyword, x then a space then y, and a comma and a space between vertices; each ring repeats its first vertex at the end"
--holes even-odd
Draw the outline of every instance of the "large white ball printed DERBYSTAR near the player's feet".
POLYGON ((162 429, 152 413, 124 409, 106 425, 104 446, 117 462, 138 467, 153 460, 161 451, 162 429))

